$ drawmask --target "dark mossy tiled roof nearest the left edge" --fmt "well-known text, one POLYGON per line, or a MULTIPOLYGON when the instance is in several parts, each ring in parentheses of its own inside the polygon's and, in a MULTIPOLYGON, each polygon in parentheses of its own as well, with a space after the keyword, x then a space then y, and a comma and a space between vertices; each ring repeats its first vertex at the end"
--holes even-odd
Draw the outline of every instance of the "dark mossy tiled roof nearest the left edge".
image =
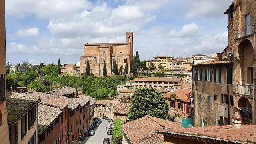
POLYGON ((8 122, 16 122, 34 104, 40 101, 39 96, 33 94, 21 94, 17 92, 7 92, 6 108, 8 122))

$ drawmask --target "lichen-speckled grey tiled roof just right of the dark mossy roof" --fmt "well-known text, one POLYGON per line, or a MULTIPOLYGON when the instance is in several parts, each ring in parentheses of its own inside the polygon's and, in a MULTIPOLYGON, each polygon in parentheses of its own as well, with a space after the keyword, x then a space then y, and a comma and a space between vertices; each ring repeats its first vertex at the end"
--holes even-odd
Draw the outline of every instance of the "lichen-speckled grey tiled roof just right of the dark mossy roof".
POLYGON ((38 105, 38 133, 42 134, 61 112, 62 110, 58 108, 44 104, 38 105))

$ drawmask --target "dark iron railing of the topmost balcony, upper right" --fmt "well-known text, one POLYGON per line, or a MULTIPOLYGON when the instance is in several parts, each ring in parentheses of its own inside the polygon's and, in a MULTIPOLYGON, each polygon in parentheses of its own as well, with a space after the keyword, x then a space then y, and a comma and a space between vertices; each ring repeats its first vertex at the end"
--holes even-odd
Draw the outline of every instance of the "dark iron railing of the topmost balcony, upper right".
POLYGON ((254 34, 254 31, 255 31, 255 23, 242 28, 238 28, 237 30, 235 30, 235 39, 254 34))

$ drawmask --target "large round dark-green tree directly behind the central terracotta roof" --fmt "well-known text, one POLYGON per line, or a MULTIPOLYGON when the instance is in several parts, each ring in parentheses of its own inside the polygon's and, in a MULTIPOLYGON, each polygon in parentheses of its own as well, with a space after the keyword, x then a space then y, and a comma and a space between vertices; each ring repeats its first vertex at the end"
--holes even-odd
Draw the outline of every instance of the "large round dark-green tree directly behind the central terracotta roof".
POLYGON ((130 120, 136 120, 146 115, 169 120, 169 106, 162 93, 154 88, 138 88, 133 94, 132 105, 128 112, 130 120))

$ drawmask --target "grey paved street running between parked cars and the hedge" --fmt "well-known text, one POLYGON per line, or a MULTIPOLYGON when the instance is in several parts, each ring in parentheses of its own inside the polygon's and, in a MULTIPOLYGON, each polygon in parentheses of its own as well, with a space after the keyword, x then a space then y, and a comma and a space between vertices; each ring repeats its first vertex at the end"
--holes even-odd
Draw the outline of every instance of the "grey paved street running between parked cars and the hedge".
POLYGON ((89 136, 81 144, 102 144, 104 138, 111 138, 111 135, 107 134, 107 130, 105 128, 105 126, 109 126, 108 120, 104 120, 102 118, 98 118, 98 120, 100 124, 94 129, 95 135, 89 136))

